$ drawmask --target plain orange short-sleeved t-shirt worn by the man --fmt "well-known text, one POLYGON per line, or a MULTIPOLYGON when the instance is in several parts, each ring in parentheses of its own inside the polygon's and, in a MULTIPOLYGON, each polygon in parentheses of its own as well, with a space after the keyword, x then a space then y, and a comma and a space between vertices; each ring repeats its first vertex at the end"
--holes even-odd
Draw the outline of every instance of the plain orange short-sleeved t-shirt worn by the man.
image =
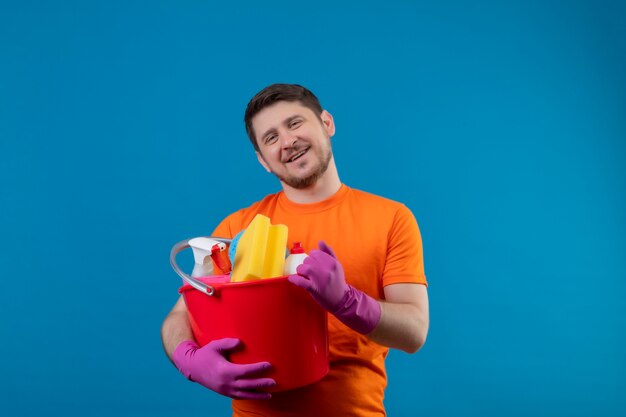
MULTIPOLYGON (((324 240, 341 262, 346 281, 376 299, 396 283, 426 284, 422 240, 411 211, 398 202, 342 185, 332 197, 296 204, 271 194, 220 223, 214 236, 232 238, 257 213, 289 228, 287 245, 306 252, 324 240)), ((389 348, 328 315, 330 371, 303 388, 272 394, 268 401, 233 400, 234 416, 384 416, 389 348)))

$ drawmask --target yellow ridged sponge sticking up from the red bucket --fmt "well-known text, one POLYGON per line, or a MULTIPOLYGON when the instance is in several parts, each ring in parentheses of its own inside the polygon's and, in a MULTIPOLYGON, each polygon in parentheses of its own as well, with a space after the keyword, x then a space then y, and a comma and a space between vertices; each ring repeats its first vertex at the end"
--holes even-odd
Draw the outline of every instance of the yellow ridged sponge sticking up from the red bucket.
POLYGON ((231 282, 281 276, 286 247, 287 226, 257 214, 237 243, 231 282))

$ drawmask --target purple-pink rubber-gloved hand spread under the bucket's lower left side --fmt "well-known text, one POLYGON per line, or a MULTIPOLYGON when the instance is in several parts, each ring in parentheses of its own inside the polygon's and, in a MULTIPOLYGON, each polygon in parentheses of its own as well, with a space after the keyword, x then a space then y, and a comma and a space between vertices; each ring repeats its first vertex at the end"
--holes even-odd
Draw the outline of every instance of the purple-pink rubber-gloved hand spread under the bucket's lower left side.
POLYGON ((172 360, 187 379, 197 382, 218 394, 236 399, 266 400, 272 397, 263 388, 276 382, 271 378, 255 378, 271 368, 268 362, 238 365, 224 355, 241 344, 239 339, 213 340, 203 347, 191 340, 176 346, 172 360))

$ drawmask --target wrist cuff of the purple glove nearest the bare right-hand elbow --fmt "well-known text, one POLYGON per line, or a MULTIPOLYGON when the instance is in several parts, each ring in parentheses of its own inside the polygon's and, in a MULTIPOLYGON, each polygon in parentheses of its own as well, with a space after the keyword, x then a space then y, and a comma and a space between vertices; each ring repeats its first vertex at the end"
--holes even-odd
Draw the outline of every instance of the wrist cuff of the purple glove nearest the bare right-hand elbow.
POLYGON ((382 310, 374 298, 348 285, 339 308, 331 313, 352 330, 369 334, 378 326, 382 310))

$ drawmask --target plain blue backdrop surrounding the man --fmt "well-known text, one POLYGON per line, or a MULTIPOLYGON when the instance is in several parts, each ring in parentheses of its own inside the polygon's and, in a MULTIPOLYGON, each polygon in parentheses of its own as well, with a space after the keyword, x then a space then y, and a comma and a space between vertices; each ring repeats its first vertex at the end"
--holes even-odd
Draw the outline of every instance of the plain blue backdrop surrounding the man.
POLYGON ((169 250, 279 189, 243 111, 295 82, 343 182, 421 227, 431 328, 389 414, 625 415, 625 28, 615 1, 3 1, 0 413, 228 415, 162 351, 169 250))

